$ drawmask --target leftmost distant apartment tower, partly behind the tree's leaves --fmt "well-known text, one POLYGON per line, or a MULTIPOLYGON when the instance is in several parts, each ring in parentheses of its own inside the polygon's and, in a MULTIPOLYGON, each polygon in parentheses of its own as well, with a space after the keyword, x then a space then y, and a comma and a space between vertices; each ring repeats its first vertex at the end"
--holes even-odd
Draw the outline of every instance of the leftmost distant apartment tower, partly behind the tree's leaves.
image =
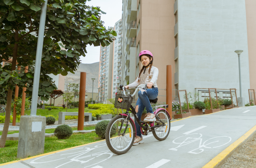
MULTIPOLYGON (((108 29, 114 29, 109 27, 108 29)), ((112 68, 113 68, 113 43, 100 48, 99 66, 99 102, 105 103, 111 98, 112 68)))

